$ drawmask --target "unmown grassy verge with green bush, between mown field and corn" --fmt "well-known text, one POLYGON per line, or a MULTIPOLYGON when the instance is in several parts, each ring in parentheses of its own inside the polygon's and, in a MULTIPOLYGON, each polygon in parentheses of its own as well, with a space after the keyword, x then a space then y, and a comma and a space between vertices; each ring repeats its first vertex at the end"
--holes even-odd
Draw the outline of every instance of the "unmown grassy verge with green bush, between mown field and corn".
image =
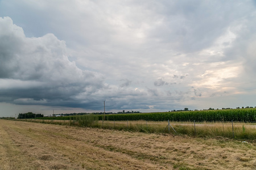
POLYGON ((256 124, 244 122, 153 122, 153 121, 98 121, 97 116, 79 116, 76 120, 26 120, 44 124, 80 126, 100 129, 135 131, 143 133, 166 133, 206 138, 234 138, 256 140, 256 124))

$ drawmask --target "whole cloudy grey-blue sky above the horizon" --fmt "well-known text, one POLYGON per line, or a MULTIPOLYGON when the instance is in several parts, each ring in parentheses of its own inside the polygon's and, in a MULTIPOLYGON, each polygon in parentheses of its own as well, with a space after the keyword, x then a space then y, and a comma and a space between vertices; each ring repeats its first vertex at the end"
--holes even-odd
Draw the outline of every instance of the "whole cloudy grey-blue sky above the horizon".
POLYGON ((256 1, 0 0, 0 117, 256 106, 256 1))

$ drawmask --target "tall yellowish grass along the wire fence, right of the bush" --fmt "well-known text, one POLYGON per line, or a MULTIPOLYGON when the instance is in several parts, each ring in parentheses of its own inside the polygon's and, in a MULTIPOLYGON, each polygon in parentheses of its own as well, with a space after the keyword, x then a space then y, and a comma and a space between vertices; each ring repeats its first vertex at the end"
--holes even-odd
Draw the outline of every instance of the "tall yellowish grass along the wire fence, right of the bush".
POLYGON ((256 139, 256 125, 246 123, 230 122, 204 122, 203 124, 192 124, 189 122, 146 122, 146 121, 105 121, 98 122, 97 128, 138 131, 144 133, 169 133, 174 135, 189 135, 193 137, 225 137, 236 139, 256 139), (196 126, 196 128, 195 128, 196 126), (174 128, 174 129, 172 129, 174 128), (170 129, 170 131, 169 131, 170 129), (196 129, 196 131, 195 131, 196 129), (175 132, 175 131, 176 132, 175 132))

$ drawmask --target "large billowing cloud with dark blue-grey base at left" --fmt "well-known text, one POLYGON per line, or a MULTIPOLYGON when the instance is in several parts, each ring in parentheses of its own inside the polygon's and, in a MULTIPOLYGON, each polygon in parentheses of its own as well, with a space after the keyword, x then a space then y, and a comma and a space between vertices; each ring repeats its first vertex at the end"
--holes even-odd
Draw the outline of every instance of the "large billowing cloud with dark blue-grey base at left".
POLYGON ((52 34, 28 38, 10 18, 0 18, 0 39, 2 102, 82 107, 73 96, 103 87, 102 76, 77 68, 68 59, 65 42, 52 34))

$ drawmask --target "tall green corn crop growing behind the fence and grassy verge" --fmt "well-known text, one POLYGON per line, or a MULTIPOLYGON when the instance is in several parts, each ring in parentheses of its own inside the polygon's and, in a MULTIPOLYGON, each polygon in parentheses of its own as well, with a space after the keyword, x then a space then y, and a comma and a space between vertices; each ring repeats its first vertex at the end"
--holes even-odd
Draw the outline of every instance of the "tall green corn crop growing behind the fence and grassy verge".
MULTIPOLYGON (((55 120, 76 120, 77 116, 52 117, 47 119, 55 120)), ((97 115, 97 120, 103 120, 104 115, 97 115)), ((158 112, 158 113, 133 113, 133 114, 108 114, 105 120, 109 121, 196 121, 196 122, 218 122, 218 121, 239 121, 255 122, 256 109, 224 109, 208 111, 183 111, 183 112, 158 112)))

